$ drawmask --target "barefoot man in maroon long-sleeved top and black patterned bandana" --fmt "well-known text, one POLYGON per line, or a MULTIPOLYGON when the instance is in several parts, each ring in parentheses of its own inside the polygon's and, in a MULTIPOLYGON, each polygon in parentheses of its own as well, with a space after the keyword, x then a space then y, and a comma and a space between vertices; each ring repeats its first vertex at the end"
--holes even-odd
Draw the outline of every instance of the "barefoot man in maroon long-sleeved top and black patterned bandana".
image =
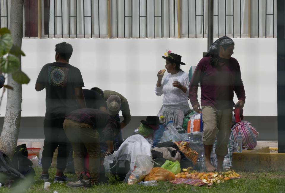
POLYGON ((235 44, 227 36, 221 37, 210 47, 208 54, 198 63, 189 86, 189 98, 193 109, 201 112, 197 99, 198 82, 201 83, 203 143, 205 165, 208 171, 216 168, 210 162, 213 143, 217 139, 215 153, 218 156, 217 170, 223 170, 224 156, 228 154, 234 92, 243 108, 246 95, 240 75, 240 66, 232 58, 235 44))

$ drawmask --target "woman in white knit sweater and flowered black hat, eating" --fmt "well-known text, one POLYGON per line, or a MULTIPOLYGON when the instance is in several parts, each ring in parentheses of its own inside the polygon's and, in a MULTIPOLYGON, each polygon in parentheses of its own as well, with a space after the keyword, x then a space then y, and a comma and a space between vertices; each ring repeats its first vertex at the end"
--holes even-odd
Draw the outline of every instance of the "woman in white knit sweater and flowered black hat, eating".
POLYGON ((162 58, 166 60, 165 68, 169 74, 162 81, 164 71, 160 70, 157 73, 155 93, 158 96, 164 95, 158 115, 163 115, 166 123, 173 121, 175 127, 182 126, 184 113, 190 109, 188 103, 189 77, 180 69, 180 65, 185 65, 185 63, 181 62, 180 55, 171 51, 164 53, 162 58))

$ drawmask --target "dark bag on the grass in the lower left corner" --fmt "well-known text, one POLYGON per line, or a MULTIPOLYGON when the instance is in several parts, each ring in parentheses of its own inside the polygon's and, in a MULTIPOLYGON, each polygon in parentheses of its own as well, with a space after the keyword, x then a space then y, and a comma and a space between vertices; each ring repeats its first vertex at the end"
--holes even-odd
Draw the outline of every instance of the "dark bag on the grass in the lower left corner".
POLYGON ((26 179, 18 170, 12 167, 10 158, 0 151, 0 183, 5 184, 5 180, 17 181, 18 179, 26 179))

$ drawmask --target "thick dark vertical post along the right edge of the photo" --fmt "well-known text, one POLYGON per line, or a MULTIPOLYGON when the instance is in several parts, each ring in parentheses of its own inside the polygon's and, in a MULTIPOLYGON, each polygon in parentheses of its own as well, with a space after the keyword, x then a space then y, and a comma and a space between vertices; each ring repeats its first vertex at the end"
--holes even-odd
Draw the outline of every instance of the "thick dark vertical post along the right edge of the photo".
POLYGON ((277 1, 277 123, 278 153, 285 153, 285 1, 277 1))

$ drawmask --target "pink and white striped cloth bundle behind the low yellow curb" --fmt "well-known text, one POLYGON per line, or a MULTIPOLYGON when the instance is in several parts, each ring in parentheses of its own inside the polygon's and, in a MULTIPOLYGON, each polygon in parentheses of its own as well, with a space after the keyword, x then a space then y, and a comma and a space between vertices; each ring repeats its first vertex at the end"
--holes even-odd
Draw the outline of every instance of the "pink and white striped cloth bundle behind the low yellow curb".
POLYGON ((254 149, 257 145, 258 132, 251 126, 251 122, 238 122, 232 127, 230 139, 236 141, 238 132, 243 136, 243 149, 254 149))

